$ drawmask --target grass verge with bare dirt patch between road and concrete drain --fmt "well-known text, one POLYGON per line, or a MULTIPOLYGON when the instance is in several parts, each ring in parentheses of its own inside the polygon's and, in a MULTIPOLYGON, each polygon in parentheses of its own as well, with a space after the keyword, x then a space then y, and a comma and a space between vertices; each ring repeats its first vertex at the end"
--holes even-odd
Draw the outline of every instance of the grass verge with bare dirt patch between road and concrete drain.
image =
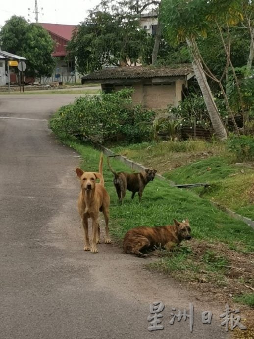
MULTIPOLYGON (((60 136, 61 137, 61 136, 60 136)), ((61 137, 82 158, 81 168, 97 170, 100 152, 89 145, 61 137)), ((130 171, 111 158, 116 171, 130 171)), ((174 252, 155 251, 159 260, 150 269, 170 273, 179 281, 188 281, 195 288, 229 297, 254 286, 254 232, 250 226, 230 218, 208 201, 186 190, 173 188, 158 179, 144 190, 141 203, 127 192, 119 205, 112 183, 112 173, 104 165, 105 186, 111 197, 110 232, 121 243, 128 229, 135 226, 172 224, 173 218, 188 218, 193 240, 183 242, 174 252), (218 292, 219 291, 219 292, 218 292)))

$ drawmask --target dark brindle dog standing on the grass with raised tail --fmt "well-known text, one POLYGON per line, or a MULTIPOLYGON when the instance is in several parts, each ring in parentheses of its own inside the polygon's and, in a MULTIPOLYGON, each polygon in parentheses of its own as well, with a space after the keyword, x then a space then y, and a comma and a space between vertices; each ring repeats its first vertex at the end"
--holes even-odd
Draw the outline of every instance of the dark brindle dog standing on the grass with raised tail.
POLYGON ((122 202, 123 198, 125 198, 126 190, 132 192, 131 199, 133 199, 135 193, 138 192, 140 201, 145 186, 149 183, 149 181, 153 181, 155 174, 157 173, 156 169, 146 169, 140 173, 117 173, 114 169, 112 169, 109 163, 109 157, 107 158, 107 163, 109 169, 115 176, 113 182, 120 202, 122 202))

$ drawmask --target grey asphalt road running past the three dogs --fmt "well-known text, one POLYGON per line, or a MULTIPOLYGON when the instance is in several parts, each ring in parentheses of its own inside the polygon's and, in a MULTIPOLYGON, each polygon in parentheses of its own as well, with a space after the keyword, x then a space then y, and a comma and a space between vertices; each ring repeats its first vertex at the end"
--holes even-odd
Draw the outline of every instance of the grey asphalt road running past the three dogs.
POLYGON ((143 269, 146 259, 114 244, 83 252, 79 158, 47 127, 74 97, 0 96, 0 338, 225 338, 224 305, 143 269), (165 304, 164 329, 150 332, 154 301, 165 304), (169 324, 171 308, 189 315, 189 303, 192 333, 189 318, 169 324), (208 310, 212 323, 203 324, 208 310))

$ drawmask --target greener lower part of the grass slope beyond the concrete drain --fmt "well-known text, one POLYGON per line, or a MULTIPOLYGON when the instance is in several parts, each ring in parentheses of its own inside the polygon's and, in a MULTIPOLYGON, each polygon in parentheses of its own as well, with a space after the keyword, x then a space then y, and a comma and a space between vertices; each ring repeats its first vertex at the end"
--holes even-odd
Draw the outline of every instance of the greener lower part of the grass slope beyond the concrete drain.
POLYGON ((235 166, 229 158, 217 156, 174 169, 164 176, 178 184, 209 183, 210 188, 197 188, 195 192, 254 220, 254 204, 248 193, 254 184, 252 168, 235 166))

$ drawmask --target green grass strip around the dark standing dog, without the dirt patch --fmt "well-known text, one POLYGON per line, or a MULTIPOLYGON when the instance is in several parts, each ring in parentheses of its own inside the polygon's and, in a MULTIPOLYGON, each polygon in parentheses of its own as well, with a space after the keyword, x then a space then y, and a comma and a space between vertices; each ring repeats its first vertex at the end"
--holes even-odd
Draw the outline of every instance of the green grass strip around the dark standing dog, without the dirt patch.
MULTIPOLYGON (((76 141, 65 140, 65 143, 81 154, 84 170, 97 170, 99 151, 76 141)), ((113 158, 111 164, 116 171, 130 171, 113 158)), ((244 252, 254 250, 254 232, 250 226, 230 218, 190 191, 173 188, 155 179, 146 186, 140 203, 137 197, 132 201, 131 192, 127 191, 124 203, 120 205, 112 183, 113 175, 107 165, 104 165, 104 177, 111 197, 111 233, 118 239, 135 226, 167 225, 173 222, 173 218, 180 221, 189 218, 195 238, 221 241, 244 252)))

